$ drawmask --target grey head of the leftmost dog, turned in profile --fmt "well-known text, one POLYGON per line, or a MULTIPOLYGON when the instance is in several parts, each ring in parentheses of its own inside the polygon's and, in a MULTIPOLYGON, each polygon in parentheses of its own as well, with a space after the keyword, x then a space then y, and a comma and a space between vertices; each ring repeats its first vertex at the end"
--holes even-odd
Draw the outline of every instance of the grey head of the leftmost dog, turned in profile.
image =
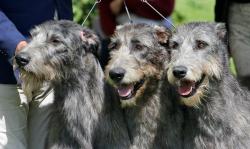
POLYGON ((99 45, 93 32, 76 23, 48 21, 31 31, 29 44, 15 56, 15 61, 22 73, 50 81, 80 65, 76 64, 78 59, 87 53, 96 54, 99 45))

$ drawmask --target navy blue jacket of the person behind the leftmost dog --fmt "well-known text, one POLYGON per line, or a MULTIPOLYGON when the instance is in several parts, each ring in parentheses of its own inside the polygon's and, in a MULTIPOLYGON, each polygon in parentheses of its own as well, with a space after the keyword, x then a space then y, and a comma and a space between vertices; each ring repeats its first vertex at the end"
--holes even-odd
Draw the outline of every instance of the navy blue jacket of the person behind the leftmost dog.
POLYGON ((71 0, 1 0, 0 1, 0 84, 15 84, 9 63, 17 44, 29 36, 35 25, 58 19, 73 19, 71 0))

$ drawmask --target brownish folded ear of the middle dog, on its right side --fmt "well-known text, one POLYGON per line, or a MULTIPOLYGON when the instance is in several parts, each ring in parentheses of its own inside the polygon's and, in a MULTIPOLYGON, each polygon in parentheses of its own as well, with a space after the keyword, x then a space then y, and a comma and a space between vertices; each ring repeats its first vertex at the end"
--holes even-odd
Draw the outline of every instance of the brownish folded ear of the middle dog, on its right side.
POLYGON ((168 43, 170 36, 172 35, 171 31, 163 26, 157 26, 157 25, 154 26, 154 30, 155 30, 155 37, 158 40, 158 42, 162 45, 166 45, 168 43))

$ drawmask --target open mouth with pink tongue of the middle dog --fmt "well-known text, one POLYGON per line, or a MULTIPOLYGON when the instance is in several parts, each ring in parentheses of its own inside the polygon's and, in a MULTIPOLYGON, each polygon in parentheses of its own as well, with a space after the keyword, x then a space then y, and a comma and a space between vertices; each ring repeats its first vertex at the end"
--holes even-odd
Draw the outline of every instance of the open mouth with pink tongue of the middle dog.
POLYGON ((129 100, 136 95, 136 92, 142 87, 144 80, 131 84, 121 84, 117 87, 117 92, 121 100, 129 100))

